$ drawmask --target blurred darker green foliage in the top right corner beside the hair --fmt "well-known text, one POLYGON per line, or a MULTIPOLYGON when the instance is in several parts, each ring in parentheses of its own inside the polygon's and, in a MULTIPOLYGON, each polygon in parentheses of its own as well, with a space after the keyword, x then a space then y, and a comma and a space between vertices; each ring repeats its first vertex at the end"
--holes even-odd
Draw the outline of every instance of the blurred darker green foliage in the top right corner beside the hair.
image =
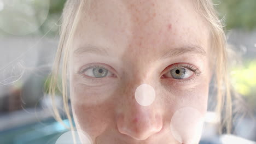
POLYGON ((225 17, 226 29, 233 28, 251 31, 256 28, 255 0, 213 0, 220 18, 225 17))

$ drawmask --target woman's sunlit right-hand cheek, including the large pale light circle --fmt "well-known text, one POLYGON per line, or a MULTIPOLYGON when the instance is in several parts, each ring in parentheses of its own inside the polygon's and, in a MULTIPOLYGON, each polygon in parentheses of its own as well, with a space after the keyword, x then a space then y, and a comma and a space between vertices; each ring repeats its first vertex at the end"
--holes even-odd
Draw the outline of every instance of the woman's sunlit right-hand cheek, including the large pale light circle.
POLYGON ((199 142, 203 117, 207 111, 208 83, 173 89, 165 93, 165 105, 168 107, 166 116, 171 134, 181 143, 199 142))

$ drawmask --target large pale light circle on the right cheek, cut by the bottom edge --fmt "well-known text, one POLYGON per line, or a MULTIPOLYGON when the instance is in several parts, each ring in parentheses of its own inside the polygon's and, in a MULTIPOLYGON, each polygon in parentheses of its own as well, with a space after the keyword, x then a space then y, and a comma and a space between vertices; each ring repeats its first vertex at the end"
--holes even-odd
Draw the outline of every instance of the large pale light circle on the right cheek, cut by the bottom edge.
POLYGON ((193 107, 177 110, 171 119, 171 134, 180 143, 199 142, 202 135, 203 116, 193 107))

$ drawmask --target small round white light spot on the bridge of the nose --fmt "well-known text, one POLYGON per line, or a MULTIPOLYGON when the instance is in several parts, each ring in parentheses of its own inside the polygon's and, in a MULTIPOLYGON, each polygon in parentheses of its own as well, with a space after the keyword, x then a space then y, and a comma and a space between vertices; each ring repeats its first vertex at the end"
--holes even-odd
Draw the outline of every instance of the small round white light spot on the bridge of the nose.
POLYGON ((142 106, 149 106, 155 100, 155 89, 147 84, 142 84, 135 91, 135 99, 142 106))

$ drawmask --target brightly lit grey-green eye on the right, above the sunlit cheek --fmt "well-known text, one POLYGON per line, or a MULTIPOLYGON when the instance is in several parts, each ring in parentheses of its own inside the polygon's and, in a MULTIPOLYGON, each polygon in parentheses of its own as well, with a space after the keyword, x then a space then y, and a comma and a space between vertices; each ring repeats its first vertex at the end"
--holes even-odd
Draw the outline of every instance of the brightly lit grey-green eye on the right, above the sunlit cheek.
POLYGON ((187 68, 174 68, 169 70, 164 76, 172 77, 173 79, 187 79, 193 74, 194 72, 187 68))

